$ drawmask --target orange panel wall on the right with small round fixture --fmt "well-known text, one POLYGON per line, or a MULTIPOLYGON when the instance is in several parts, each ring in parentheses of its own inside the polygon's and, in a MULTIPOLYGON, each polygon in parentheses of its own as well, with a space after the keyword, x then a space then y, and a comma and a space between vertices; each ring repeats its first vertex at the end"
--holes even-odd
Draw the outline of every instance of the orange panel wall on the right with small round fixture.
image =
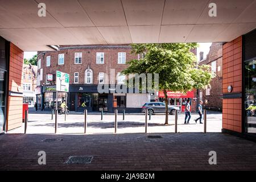
MULTIPOLYGON (((223 45, 222 93, 242 93, 242 36, 223 45)), ((242 98, 224 98, 222 102, 222 128, 242 132, 242 98)))

